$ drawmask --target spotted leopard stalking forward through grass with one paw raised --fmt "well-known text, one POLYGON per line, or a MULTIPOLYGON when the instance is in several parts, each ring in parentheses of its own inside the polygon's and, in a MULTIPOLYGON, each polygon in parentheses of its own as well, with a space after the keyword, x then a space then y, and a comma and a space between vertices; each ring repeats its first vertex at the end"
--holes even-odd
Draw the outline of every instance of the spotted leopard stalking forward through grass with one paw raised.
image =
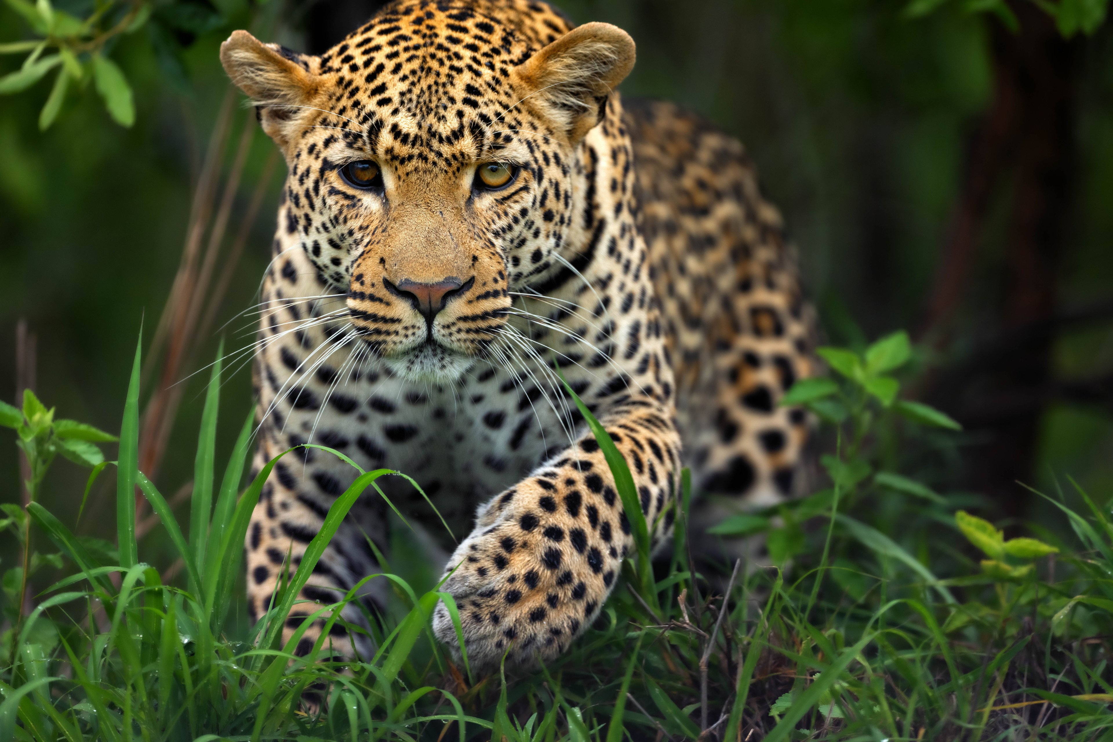
POLYGON ((361 494, 312 566, 295 655, 326 626, 333 656, 374 652, 392 511, 444 560, 431 622, 457 659, 565 652, 634 548, 583 409, 654 553, 684 467, 692 528, 799 494, 810 423, 781 399, 816 360, 796 251, 736 138, 622 99, 626 31, 541 0, 398 0, 322 55, 239 30, 220 60, 287 166, 250 349, 253 467, 282 457, 246 535, 250 619, 361 471, 407 475, 361 494))

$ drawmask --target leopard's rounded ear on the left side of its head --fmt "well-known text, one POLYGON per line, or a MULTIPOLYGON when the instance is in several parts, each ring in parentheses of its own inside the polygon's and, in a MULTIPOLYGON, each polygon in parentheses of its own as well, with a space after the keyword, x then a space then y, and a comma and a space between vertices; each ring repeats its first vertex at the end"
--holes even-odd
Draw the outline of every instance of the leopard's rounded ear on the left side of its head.
POLYGON ((220 44, 220 63, 233 83, 258 107, 267 136, 279 146, 290 141, 298 119, 317 96, 319 59, 263 43, 247 31, 233 31, 220 44))

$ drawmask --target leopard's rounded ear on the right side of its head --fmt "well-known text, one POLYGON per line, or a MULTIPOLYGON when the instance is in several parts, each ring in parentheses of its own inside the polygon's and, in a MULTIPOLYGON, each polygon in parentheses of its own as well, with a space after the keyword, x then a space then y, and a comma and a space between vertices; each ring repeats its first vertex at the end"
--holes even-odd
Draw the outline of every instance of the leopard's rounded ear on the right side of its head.
POLYGON ((584 23, 514 70, 528 105, 578 144, 600 120, 602 103, 633 69, 630 34, 610 23, 584 23))

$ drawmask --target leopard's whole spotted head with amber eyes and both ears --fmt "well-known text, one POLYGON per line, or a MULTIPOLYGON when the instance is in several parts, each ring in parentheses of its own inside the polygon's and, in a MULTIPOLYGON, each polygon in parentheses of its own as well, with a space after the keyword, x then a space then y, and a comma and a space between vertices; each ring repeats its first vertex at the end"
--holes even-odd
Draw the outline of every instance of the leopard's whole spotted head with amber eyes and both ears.
POLYGON ((245 31, 221 48, 286 157, 287 234, 344 295, 343 332, 400 376, 457 378, 513 295, 570 263, 577 147, 634 52, 604 23, 553 26, 535 52, 474 6, 420 2, 322 57, 245 31))

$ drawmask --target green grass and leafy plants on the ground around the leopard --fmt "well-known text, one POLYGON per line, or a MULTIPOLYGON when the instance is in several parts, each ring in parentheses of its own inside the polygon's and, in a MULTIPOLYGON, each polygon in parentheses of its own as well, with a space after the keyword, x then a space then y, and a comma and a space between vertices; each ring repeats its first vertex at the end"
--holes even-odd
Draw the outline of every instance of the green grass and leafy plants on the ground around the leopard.
MULTIPOLYGON (((240 489, 248 415, 217 485, 216 364, 187 537, 136 469, 137 350, 120 426, 117 547, 75 536, 38 503, 3 506, 0 525, 24 543, 27 574, 55 565, 69 576, 33 596, 28 615, 16 600, 22 565, 3 576, 0 740, 1113 740, 1107 503, 1078 489, 1077 513, 1058 493, 1050 501, 1062 522, 1045 524, 1042 541, 1005 540, 965 512, 976 497, 896 473, 945 451, 952 434, 943 429, 954 427, 897 399, 893 374, 908 360, 907 339, 890 336, 861 355, 823 353, 839 377, 800 383, 791 400, 828 421, 833 486, 715 528, 720 537, 765 534, 779 566, 701 563, 705 574, 693 576, 684 476, 671 556, 651 565, 644 524, 636 527, 626 578, 564 656, 481 677, 433 640, 429 619, 444 594, 429 575, 440 565, 415 565, 404 527, 383 564, 390 572, 404 554, 408 581, 367 577, 394 588, 385 620, 372 623, 374 657, 317 662, 324 640, 294 655, 301 632, 334 606, 312 606, 282 642, 327 540, 358 497, 382 496, 376 481, 396 475, 387 469, 357 472, 305 568, 286 576, 257 625, 230 620, 248 517, 275 462, 240 489), (135 487, 181 561, 174 580, 142 561, 135 487), (1067 535, 1056 537, 1056 527, 1067 535), (32 537, 58 552, 31 548, 32 537), (302 703, 309 689, 325 698, 312 713, 302 703)), ((17 428, 36 486, 53 453, 92 476, 111 465, 93 445, 111 436, 55 421, 37 399, 0 407, 0 424, 17 428)), ((605 432, 594 432, 609 451, 605 432)), ((608 461, 621 485, 624 463, 608 461)))

